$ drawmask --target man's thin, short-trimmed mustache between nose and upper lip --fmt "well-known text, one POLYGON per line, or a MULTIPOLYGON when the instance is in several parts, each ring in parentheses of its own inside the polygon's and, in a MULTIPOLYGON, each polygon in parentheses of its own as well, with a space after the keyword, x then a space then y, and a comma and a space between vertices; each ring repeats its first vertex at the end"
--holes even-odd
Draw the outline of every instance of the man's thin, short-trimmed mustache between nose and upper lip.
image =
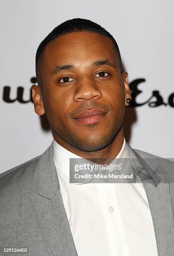
POLYGON ((104 112, 109 112, 111 109, 110 106, 104 105, 101 103, 98 103, 96 101, 89 101, 89 102, 84 102, 82 105, 80 105, 79 108, 73 110, 71 113, 68 114, 69 118, 74 118, 77 115, 80 115, 82 112, 92 109, 92 108, 98 108, 103 110, 104 112))

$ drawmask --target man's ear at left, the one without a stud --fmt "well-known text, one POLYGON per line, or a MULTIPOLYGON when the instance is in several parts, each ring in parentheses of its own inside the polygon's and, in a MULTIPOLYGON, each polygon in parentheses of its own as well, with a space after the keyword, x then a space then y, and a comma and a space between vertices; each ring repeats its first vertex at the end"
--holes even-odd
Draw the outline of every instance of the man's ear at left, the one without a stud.
POLYGON ((39 85, 33 84, 31 87, 32 90, 32 100, 35 106, 35 112, 37 115, 44 115, 45 108, 43 105, 42 91, 39 85))

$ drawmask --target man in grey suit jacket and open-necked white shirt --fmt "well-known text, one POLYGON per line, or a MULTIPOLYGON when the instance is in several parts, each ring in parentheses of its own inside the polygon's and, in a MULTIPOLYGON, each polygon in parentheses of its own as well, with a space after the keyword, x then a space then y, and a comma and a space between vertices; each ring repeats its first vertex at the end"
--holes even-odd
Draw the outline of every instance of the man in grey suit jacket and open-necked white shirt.
POLYGON ((114 38, 90 20, 68 20, 37 49, 36 76, 35 112, 46 114, 54 141, 0 178, 1 254, 174 255, 171 163, 157 174, 158 158, 125 142, 131 93, 114 38), (141 180, 70 183, 69 160, 78 157, 136 159, 141 180))

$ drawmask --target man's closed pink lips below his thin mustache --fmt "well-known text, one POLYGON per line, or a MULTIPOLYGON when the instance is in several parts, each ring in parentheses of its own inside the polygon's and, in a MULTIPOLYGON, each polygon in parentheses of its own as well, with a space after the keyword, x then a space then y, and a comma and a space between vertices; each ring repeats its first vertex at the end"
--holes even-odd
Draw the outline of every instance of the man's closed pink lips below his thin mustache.
POLYGON ((82 124, 93 124, 98 123, 105 114, 106 112, 100 109, 87 110, 77 115, 74 120, 82 124))

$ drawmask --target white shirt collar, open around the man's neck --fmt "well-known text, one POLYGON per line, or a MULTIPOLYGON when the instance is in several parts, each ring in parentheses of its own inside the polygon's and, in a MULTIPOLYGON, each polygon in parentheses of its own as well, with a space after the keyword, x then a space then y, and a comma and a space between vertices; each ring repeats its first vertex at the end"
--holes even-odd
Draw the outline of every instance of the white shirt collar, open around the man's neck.
MULTIPOLYGON (((70 158, 82 158, 60 146, 55 140, 53 141, 53 158, 57 172, 61 172, 67 179, 70 179, 70 158)), ((129 151, 124 138, 123 145, 116 158, 129 158, 129 151)))

